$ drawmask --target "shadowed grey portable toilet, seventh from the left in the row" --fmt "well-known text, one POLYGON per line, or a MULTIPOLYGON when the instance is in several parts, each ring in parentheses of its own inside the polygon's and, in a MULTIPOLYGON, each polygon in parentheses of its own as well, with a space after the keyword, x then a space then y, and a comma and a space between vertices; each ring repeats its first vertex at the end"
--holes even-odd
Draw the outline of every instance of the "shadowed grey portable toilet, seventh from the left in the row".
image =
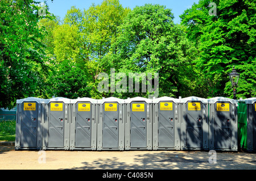
POLYGON ((180 99, 181 150, 208 150, 208 101, 190 96, 180 99))

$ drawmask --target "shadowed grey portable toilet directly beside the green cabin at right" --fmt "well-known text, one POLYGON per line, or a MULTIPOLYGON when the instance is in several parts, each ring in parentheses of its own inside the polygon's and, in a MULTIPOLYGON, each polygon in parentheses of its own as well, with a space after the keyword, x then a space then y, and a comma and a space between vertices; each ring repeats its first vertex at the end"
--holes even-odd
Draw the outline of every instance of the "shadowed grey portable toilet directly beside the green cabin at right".
POLYGON ((238 150, 238 101, 216 97, 209 103, 209 149, 238 150))

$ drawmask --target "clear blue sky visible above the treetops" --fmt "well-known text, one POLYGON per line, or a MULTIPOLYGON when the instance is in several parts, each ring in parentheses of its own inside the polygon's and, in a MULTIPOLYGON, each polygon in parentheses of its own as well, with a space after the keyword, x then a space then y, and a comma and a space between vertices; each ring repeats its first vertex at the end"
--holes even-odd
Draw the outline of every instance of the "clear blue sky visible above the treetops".
MULTIPOLYGON (((54 0, 51 2, 51 0, 47 0, 47 4, 52 14, 60 16, 60 18, 63 19, 71 6, 76 6, 84 10, 88 9, 92 3, 98 5, 101 4, 102 1, 103 0, 54 0)), ((43 0, 39 0, 39 2, 43 2, 43 0)), ((133 10, 135 6, 143 6, 146 3, 164 5, 166 8, 172 9, 172 13, 175 16, 174 23, 180 23, 179 15, 183 14, 194 2, 198 3, 199 0, 119 0, 119 3, 123 7, 130 7, 131 10, 133 10)))

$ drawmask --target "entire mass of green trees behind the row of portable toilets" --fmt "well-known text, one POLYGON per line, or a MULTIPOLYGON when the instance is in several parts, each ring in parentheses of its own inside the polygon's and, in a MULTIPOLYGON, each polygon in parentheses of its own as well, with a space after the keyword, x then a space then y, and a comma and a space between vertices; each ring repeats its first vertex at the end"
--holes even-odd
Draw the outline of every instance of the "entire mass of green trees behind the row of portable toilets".
POLYGON ((233 98, 233 66, 237 97, 256 96, 254 1, 200 0, 180 24, 158 4, 131 10, 102 0, 88 9, 72 6, 60 19, 45 3, 42 15, 36 0, 0 1, 0 107, 28 96, 148 97, 156 82, 156 96, 233 98), (139 78, 129 82, 131 74, 139 78), (105 91, 98 90, 102 75, 105 91), (136 81, 139 88, 130 89, 136 81))

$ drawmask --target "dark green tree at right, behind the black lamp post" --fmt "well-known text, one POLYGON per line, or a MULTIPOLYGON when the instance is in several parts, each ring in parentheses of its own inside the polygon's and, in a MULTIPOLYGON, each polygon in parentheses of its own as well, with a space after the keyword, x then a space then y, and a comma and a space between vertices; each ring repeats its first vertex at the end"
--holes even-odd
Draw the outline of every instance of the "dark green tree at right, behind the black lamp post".
POLYGON ((240 73, 238 98, 256 95, 256 2, 220 0, 216 16, 209 14, 209 1, 201 0, 181 15, 189 40, 199 48, 196 68, 201 70, 205 96, 230 96, 228 73, 233 66, 240 73))

